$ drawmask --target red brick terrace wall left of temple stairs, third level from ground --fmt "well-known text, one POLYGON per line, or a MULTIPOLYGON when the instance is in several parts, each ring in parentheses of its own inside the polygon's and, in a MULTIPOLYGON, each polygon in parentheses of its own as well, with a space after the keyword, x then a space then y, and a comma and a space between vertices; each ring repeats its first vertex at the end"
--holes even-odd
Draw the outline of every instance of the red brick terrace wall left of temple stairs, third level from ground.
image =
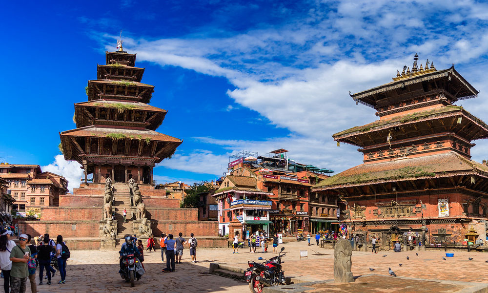
MULTIPOLYGON (((42 208, 43 221, 102 220, 101 207, 48 207, 42 208)), ((71 229, 71 228, 70 228, 71 229)))

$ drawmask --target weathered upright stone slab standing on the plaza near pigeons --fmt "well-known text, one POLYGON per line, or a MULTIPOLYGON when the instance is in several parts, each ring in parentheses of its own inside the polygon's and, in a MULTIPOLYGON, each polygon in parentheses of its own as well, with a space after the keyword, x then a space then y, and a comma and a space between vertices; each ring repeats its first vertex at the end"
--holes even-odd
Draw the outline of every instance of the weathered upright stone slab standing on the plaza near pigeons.
POLYGON ((352 246, 346 239, 339 239, 334 248, 334 282, 354 282, 351 267, 352 246))

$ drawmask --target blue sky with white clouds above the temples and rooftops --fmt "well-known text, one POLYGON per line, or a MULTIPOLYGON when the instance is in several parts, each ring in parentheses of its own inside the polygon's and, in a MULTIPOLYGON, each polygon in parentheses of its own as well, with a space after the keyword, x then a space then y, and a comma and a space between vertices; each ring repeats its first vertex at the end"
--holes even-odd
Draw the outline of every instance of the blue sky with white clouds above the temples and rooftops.
MULTIPOLYGON (((487 120, 488 7, 476 1, 64 1, 4 3, 0 157, 62 173, 59 132, 122 29, 124 49, 168 110, 159 132, 184 140, 160 183, 211 180, 229 154, 276 148, 318 167, 361 163, 331 134, 377 117, 347 94, 385 84, 419 53, 480 90, 458 103, 487 120), (7 28, 7 29, 5 29, 7 28)), ((486 159, 483 141, 473 159, 486 159)))

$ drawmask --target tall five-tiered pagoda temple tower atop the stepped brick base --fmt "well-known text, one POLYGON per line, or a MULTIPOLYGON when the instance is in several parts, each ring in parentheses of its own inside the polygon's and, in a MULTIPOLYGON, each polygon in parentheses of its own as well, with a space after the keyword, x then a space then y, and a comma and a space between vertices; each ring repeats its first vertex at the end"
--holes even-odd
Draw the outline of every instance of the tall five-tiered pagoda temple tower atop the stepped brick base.
POLYGON ((153 183, 153 167, 170 157, 182 140, 154 131, 166 111, 147 105, 154 86, 142 84, 144 68, 134 67, 136 54, 105 52, 97 80, 88 81, 88 102, 75 104, 76 129, 61 132, 66 160, 79 162, 85 183, 153 183))

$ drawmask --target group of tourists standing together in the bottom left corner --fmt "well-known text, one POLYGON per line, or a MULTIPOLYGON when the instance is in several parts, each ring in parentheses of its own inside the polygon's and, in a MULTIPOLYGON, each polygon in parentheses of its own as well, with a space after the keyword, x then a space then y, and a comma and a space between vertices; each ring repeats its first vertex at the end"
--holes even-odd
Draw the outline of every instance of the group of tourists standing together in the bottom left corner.
POLYGON ((61 276, 58 284, 65 283, 66 260, 70 253, 61 235, 54 241, 47 233, 34 239, 30 234, 20 234, 18 244, 11 240, 14 235, 12 230, 0 231, 0 269, 5 293, 25 293, 27 279, 30 281, 32 293, 36 293, 37 268, 39 285, 43 284, 44 269, 46 284, 51 284, 51 278, 58 271, 61 276), (53 268, 53 260, 56 260, 54 266, 58 270, 53 268))

